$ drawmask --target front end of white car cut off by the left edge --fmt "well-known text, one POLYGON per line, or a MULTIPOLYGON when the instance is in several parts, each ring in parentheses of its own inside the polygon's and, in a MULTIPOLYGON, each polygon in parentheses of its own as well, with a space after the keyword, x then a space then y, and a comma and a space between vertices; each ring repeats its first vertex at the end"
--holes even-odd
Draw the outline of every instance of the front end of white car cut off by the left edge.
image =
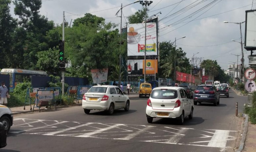
POLYGON ((7 106, 0 105, 0 122, 4 125, 7 132, 9 132, 13 125, 13 112, 7 106))

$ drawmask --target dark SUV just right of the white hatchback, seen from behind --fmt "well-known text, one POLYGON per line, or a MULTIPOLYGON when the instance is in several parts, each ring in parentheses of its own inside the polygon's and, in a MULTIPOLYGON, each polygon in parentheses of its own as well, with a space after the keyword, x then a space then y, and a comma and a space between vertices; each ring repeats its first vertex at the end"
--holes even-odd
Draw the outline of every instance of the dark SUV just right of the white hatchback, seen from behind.
POLYGON ((214 106, 220 104, 220 95, 214 85, 199 85, 194 91, 194 105, 197 103, 213 103, 214 106))

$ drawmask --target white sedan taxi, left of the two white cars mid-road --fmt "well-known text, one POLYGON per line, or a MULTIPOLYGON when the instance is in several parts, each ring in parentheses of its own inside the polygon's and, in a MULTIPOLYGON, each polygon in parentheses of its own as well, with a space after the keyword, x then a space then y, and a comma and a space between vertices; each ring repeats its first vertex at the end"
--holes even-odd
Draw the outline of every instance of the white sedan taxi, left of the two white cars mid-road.
POLYGON ((128 111, 130 100, 117 86, 96 85, 83 96, 82 107, 86 114, 91 110, 108 110, 109 114, 113 114, 116 109, 124 108, 128 111))

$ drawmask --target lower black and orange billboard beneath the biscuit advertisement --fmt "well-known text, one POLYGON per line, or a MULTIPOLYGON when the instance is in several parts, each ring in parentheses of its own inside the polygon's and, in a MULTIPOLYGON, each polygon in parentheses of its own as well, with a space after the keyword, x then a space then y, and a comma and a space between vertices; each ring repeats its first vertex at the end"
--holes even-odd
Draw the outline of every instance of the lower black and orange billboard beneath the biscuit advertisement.
MULTIPOLYGON (((144 74, 145 60, 127 60, 128 75, 142 76, 144 74)), ((146 75, 153 76, 158 73, 158 60, 146 60, 146 75)))

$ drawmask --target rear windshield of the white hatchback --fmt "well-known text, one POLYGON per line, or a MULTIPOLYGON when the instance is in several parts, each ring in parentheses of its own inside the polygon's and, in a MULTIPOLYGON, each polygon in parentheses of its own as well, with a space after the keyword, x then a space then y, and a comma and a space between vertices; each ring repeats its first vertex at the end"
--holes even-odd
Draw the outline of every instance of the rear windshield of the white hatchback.
POLYGON ((177 90, 153 90, 151 93, 151 98, 154 99, 175 99, 178 97, 177 90))

